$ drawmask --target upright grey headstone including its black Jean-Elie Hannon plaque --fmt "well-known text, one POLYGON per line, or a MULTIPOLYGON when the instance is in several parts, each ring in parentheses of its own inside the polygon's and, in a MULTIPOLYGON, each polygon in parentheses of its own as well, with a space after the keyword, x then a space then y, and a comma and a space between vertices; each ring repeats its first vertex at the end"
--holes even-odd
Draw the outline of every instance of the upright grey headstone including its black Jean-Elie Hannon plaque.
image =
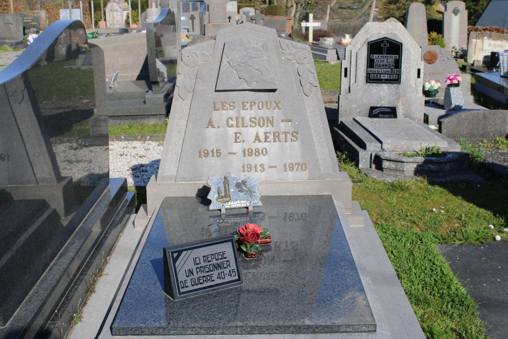
POLYGON ((365 24, 342 61, 339 120, 369 116, 370 106, 397 107, 423 121, 421 48, 400 23, 365 24))

